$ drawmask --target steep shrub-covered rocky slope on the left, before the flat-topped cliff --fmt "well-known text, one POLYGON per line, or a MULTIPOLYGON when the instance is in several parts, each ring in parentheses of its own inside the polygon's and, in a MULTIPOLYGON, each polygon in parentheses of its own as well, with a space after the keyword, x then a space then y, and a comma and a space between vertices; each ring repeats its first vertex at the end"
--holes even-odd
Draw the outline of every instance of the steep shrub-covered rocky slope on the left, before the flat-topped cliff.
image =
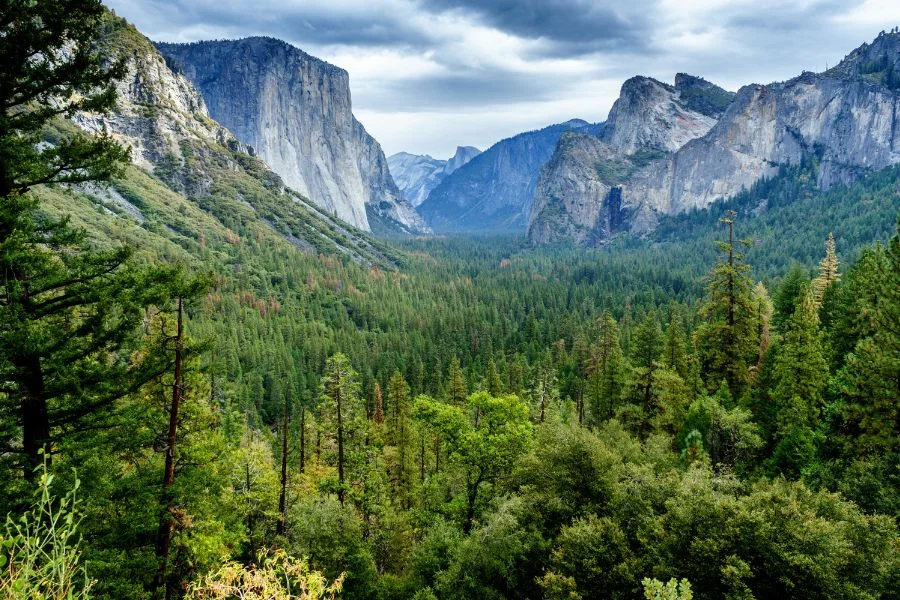
MULTIPOLYGON (((116 217, 113 229, 198 253, 249 239, 363 263, 392 262, 379 242, 286 188, 252 148, 210 118, 199 91, 134 27, 109 14, 101 33, 100 51, 127 64, 116 110, 77 114, 48 135, 52 143, 76 127, 107 131, 131 148, 134 166, 110 190, 79 190, 102 214, 116 217)), ((95 226, 101 227, 88 228, 95 226)))

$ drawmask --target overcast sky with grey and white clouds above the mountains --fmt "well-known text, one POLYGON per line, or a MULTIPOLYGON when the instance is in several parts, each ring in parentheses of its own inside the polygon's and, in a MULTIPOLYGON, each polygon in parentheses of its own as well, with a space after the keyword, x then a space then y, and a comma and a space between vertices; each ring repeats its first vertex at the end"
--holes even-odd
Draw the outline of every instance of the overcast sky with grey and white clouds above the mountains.
POLYGON ((388 154, 445 158, 579 117, 632 75, 736 90, 821 71, 900 25, 898 0, 106 0, 151 39, 268 35, 347 69, 388 154))

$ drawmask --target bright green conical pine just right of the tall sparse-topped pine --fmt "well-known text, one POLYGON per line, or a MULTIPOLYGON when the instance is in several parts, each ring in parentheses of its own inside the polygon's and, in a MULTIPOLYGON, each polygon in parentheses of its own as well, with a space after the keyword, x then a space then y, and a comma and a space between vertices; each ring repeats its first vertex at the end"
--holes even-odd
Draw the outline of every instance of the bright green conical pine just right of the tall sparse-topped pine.
POLYGON ((777 446, 772 464, 783 473, 797 475, 813 459, 815 430, 828 383, 812 290, 801 295, 787 326, 774 365, 777 446))

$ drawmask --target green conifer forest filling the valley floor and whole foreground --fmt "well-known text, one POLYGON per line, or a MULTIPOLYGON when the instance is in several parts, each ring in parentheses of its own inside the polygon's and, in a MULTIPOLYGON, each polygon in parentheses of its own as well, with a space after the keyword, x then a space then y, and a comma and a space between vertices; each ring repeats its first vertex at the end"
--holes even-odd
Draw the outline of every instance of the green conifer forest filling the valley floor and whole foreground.
POLYGON ((0 37, 0 595, 900 597, 900 168, 301 251, 66 126, 120 70, 56 4, 0 37))

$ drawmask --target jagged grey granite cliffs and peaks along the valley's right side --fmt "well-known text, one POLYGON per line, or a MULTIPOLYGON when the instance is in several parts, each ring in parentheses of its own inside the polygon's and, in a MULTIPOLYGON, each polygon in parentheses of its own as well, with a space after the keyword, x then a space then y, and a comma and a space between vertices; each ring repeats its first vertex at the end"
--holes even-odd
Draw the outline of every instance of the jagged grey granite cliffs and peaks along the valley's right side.
POLYGON ((724 90, 699 78, 629 80, 600 139, 560 141, 536 186, 529 239, 597 244, 646 232, 660 215, 704 208, 804 161, 818 165, 820 189, 900 163, 898 73, 895 30, 825 73, 744 86, 727 106, 724 90))

